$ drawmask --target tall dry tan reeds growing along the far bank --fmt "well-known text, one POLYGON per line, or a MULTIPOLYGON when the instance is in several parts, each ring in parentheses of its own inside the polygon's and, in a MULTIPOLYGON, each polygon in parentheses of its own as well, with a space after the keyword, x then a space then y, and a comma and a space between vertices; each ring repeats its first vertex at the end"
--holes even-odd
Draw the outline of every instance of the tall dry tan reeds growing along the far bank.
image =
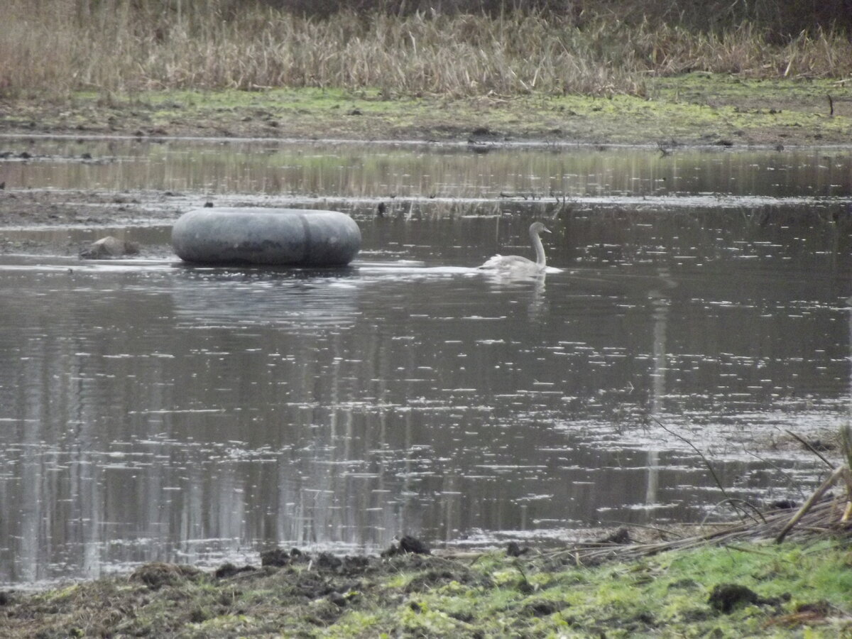
POLYGON ((749 77, 844 77, 849 38, 785 44, 744 25, 722 33, 621 21, 612 13, 332 14, 311 19, 226 0, 9 0, 0 95, 95 89, 382 89, 386 95, 642 94, 645 78, 686 70, 749 77), (180 11, 177 8, 181 8, 180 11))

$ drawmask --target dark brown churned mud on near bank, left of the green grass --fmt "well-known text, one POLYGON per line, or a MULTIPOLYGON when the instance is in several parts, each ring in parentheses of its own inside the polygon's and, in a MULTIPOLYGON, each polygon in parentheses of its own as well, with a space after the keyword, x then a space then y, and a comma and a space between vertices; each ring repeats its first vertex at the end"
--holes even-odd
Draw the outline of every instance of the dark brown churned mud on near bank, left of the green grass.
MULTIPOLYGON (((0 592, 0 636, 210 636, 190 626, 239 615, 265 616, 256 628, 262 635, 302 625, 293 634, 304 636, 304 628, 333 623, 366 599, 388 598, 383 605, 394 607, 397 595, 383 582, 403 573, 419 575, 402 590, 409 595, 452 583, 494 587, 461 561, 418 554, 337 557, 273 550, 262 561, 260 568, 224 564, 212 573, 154 562, 128 577, 44 596, 0 592)), ((544 607, 530 614, 544 614, 544 607)))

